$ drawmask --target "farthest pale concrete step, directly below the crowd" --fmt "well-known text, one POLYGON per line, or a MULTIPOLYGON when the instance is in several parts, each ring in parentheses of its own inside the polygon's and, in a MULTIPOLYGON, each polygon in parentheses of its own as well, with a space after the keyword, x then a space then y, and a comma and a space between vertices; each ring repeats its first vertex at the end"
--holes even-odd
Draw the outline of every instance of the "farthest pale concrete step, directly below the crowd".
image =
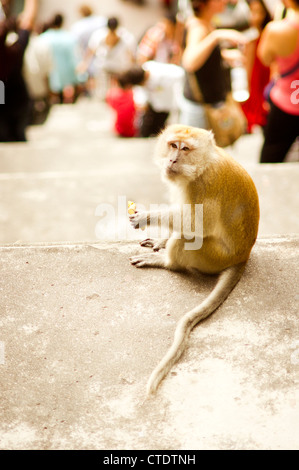
MULTIPOLYGON (((113 120, 110 108, 95 98, 81 98, 75 105, 55 105, 44 125, 29 128, 29 142, 0 143, 0 172, 98 168, 107 152, 123 160, 124 156, 132 158, 136 146, 148 152, 148 142, 153 139, 117 138, 113 120)), ((176 116, 171 116, 170 122, 175 121, 176 116)), ((262 143, 263 136, 257 131, 242 136, 228 151, 244 166, 255 164, 262 143)), ((294 145, 288 161, 299 161, 298 145, 294 145)))

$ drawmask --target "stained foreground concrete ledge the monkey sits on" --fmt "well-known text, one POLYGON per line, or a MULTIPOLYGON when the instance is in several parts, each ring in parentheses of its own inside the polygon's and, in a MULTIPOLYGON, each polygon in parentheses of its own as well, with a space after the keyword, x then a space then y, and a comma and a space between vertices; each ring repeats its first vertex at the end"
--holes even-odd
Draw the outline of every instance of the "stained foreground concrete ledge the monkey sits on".
POLYGON ((150 401, 216 280, 136 269, 135 242, 1 247, 0 449, 298 449, 298 244, 257 242, 150 401))

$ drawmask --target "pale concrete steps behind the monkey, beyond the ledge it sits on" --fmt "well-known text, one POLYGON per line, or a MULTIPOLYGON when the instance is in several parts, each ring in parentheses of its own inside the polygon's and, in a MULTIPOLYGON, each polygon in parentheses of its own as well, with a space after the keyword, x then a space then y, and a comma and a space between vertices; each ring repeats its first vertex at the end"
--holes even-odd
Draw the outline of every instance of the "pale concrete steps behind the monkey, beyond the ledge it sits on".
MULTIPOLYGON (((97 240, 102 204, 118 213, 120 196, 149 207, 168 202, 152 161, 155 139, 112 132, 104 103, 82 100, 53 108, 25 144, 0 144, 0 243, 97 240)), ((228 149, 259 193, 259 235, 299 232, 299 165, 258 165, 260 134, 228 149)))

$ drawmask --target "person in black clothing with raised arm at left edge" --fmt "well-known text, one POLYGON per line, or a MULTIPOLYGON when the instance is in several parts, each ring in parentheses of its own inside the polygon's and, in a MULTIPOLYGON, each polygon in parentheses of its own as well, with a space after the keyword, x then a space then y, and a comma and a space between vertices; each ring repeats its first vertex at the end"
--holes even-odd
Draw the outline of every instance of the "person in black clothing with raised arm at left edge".
POLYGON ((0 20, 0 80, 4 83, 5 104, 0 105, 0 141, 26 141, 31 101, 23 77, 23 59, 29 36, 37 15, 37 0, 26 0, 24 10, 17 21, 13 18, 0 20), (10 32, 16 40, 10 44, 6 39, 10 32))

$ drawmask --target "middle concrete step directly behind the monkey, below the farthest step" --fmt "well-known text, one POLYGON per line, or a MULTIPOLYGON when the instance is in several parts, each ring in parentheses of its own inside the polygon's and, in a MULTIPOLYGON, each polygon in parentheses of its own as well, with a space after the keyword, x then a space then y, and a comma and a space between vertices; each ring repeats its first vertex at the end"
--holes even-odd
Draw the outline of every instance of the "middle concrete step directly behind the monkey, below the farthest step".
MULTIPOLYGON (((131 143, 136 151, 127 158, 108 151, 93 169, 88 164, 84 169, 81 157, 77 160, 81 169, 71 169, 70 157, 69 170, 0 174, 0 243, 96 240, 100 221, 96 213, 103 204, 121 217, 122 197, 148 208, 167 203, 168 194, 151 160, 153 144, 131 143)), ((38 156, 28 165, 34 158, 38 156)), ((66 159, 60 158, 66 165, 66 159)), ((96 159, 91 156, 89 162, 96 159)), ((259 235, 298 233, 298 164, 247 165, 247 170, 260 198, 259 235)))

